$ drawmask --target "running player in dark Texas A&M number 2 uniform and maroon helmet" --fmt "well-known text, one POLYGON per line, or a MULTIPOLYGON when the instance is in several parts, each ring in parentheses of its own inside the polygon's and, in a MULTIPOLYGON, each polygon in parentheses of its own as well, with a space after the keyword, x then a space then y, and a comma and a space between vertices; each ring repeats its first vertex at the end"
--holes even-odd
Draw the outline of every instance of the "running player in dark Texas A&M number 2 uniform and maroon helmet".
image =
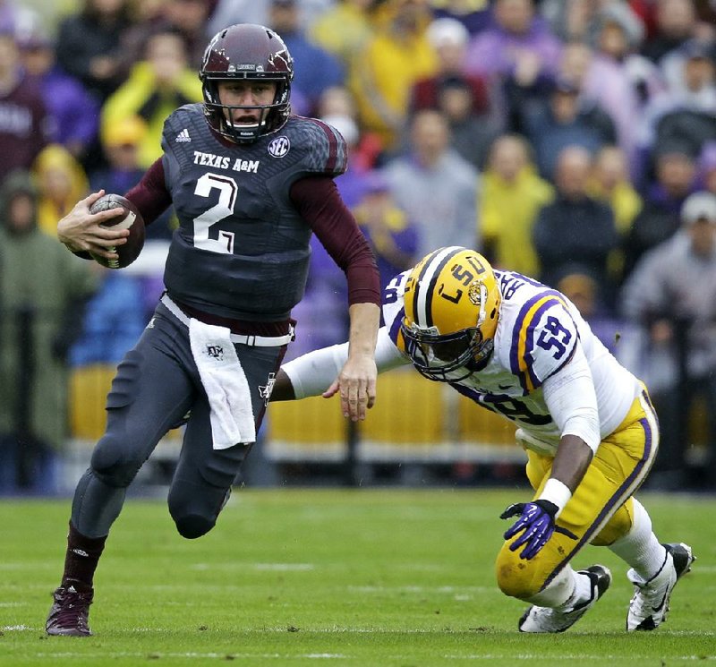
MULTIPOLYGON (((375 400, 379 274, 370 247, 337 193, 345 141, 328 124, 290 114, 293 60, 273 31, 221 30, 200 69, 203 104, 166 119, 164 154, 125 196, 146 224, 175 208, 166 293, 107 397, 107 431, 72 502, 64 574, 49 635, 90 635, 92 581, 127 487, 162 436, 185 423, 168 494, 183 537, 216 523, 251 449, 275 372, 293 338, 315 233, 345 271, 350 355, 334 389, 345 416, 375 400)), ((57 227, 72 252, 112 259, 126 231, 90 214, 103 191, 57 227)))

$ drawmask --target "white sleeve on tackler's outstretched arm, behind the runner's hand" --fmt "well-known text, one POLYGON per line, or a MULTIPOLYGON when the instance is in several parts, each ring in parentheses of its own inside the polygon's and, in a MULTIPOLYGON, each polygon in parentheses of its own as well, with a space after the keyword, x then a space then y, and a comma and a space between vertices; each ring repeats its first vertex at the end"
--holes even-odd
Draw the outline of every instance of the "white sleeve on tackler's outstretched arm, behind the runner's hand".
MULTIPOLYGON (((299 356, 281 368, 286 372, 294 387, 295 398, 307 398, 320 396, 328 389, 331 382, 336 380, 338 373, 341 372, 347 358, 348 344, 341 343, 299 356)), ((410 363, 390 340, 388 329, 385 327, 381 327, 378 331, 375 363, 379 373, 410 363)))

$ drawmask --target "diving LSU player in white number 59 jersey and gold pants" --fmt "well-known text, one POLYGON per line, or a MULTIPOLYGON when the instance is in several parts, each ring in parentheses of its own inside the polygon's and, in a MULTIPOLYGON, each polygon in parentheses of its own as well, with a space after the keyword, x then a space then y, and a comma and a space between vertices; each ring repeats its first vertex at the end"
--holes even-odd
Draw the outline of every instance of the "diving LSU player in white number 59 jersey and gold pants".
MULTIPOLYGON (((634 497, 659 447, 644 384, 566 296, 466 248, 440 248, 397 276, 383 314, 379 372, 412 363, 517 426, 534 495, 502 513, 515 522, 495 569, 502 592, 531 605, 520 631, 563 632, 606 592, 609 569, 569 564, 587 543, 629 566, 626 629, 656 629, 695 557, 684 543, 660 543, 634 497)), ((286 363, 272 400, 332 396, 346 355, 344 344, 286 363)))

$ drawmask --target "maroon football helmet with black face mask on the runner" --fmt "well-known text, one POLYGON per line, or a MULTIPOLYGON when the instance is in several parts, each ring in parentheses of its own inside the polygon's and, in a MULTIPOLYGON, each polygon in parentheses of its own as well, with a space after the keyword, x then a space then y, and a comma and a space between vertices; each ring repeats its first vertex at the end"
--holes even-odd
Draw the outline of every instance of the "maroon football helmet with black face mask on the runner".
POLYGON ((290 113, 294 59, 284 40, 273 30, 252 23, 238 23, 220 30, 204 52, 199 78, 207 123, 226 139, 250 143, 286 124, 290 113), (234 126, 228 122, 225 110, 237 107, 221 104, 217 87, 218 81, 227 79, 276 81, 273 103, 251 107, 264 111, 259 124, 234 126))

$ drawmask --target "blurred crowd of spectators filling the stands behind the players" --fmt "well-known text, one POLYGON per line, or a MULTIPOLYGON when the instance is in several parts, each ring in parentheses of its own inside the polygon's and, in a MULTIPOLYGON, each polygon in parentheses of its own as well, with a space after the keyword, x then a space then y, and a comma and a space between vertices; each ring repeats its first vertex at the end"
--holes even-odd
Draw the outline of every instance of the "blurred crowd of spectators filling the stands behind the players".
MULTIPOLYGON (((0 0, 0 488, 13 448, 63 446, 66 370, 117 363, 139 336, 175 226, 168 211, 117 272, 64 251, 56 221, 90 191, 139 181, 166 115, 201 101, 209 38, 236 22, 277 30, 293 112, 343 134, 337 186, 384 285, 456 244, 558 287, 649 384, 655 483, 684 483, 701 439, 716 487, 712 2, 46 4, 0 0)), ((345 338, 345 299, 314 243, 290 356, 345 338)), ((21 483, 32 465, 17 465, 21 483)))

